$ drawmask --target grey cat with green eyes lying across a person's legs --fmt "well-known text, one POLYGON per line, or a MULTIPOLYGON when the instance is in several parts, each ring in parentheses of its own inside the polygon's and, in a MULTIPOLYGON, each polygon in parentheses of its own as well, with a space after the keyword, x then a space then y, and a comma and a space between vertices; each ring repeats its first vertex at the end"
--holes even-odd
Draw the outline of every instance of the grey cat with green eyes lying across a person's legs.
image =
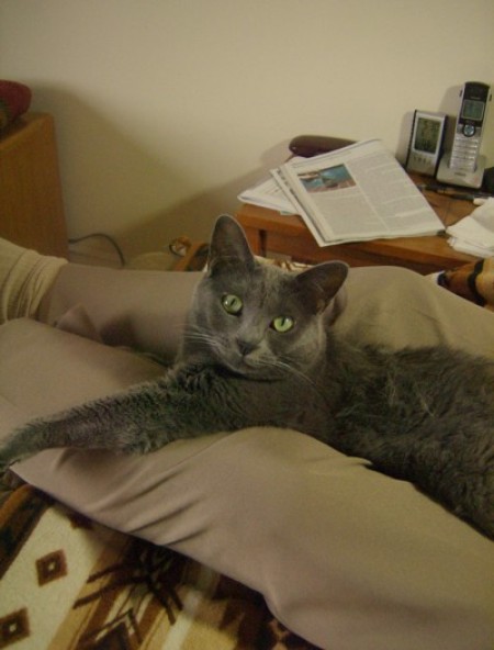
POLYGON ((336 338, 341 262, 258 261, 216 222, 176 365, 158 380, 29 423, 0 464, 49 447, 148 452, 178 438, 294 428, 414 482, 494 539, 494 363, 446 347, 390 351, 336 338))

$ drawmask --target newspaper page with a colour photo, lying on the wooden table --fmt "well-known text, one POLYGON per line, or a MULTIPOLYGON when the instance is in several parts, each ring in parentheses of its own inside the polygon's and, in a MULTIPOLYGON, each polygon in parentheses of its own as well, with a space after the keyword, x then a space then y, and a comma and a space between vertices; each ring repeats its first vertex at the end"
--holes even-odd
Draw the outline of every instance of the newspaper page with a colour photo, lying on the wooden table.
POLYGON ((433 235, 442 222, 381 141, 272 170, 319 246, 433 235))

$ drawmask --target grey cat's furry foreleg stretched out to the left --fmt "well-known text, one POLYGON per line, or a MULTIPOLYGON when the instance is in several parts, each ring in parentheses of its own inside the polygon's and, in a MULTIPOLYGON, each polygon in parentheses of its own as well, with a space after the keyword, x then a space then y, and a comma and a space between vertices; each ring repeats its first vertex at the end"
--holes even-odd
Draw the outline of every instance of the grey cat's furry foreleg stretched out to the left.
POLYGON ((171 371, 125 393, 29 422, 1 444, 0 468, 56 447, 146 453, 179 438, 251 426, 258 415, 243 407, 252 403, 245 399, 248 388, 207 367, 171 371))

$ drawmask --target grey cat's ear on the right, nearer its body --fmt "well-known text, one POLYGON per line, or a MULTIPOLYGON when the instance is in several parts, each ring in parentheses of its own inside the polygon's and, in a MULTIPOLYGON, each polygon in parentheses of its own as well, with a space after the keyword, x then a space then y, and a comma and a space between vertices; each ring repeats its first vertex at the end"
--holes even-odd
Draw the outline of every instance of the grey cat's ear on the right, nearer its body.
POLYGON ((343 261, 325 261, 295 277, 296 290, 312 314, 323 312, 338 293, 348 276, 343 261))

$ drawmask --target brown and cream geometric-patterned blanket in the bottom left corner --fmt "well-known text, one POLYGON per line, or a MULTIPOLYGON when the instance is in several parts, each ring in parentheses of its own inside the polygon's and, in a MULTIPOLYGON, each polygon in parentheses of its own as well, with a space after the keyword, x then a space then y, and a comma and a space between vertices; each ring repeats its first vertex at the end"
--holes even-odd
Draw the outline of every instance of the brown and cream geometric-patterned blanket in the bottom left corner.
POLYGON ((30 485, 0 507, 0 648, 316 650, 256 592, 30 485))

